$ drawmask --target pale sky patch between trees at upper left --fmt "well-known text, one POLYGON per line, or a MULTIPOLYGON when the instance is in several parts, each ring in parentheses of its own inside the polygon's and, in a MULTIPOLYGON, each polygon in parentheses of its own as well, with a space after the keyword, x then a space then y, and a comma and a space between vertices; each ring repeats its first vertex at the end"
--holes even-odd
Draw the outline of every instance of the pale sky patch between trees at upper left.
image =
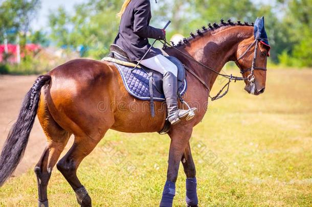
POLYGON ((48 27, 48 15, 50 11, 54 11, 58 7, 63 6, 66 8, 66 11, 73 12, 74 5, 83 2, 86 2, 86 0, 41 0, 41 9, 39 10, 36 19, 32 22, 31 27, 34 30, 48 27))

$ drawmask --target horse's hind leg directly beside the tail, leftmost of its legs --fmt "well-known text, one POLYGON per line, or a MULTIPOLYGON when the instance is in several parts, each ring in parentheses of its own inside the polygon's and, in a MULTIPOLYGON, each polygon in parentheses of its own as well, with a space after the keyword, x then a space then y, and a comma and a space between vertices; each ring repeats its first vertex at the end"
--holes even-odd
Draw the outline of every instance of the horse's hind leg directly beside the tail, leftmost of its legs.
POLYGON ((47 186, 51 177, 52 169, 57 159, 66 146, 70 134, 63 130, 52 118, 44 96, 40 98, 38 108, 39 122, 47 136, 47 147, 44 149, 39 162, 35 167, 38 182, 39 206, 48 206, 47 186))

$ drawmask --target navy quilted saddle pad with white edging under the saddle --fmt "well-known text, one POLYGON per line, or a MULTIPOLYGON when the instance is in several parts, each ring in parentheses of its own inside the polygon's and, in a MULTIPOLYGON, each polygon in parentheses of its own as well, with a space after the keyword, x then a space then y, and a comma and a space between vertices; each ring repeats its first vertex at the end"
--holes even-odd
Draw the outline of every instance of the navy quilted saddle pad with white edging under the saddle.
MULTIPOLYGON (((118 68, 118 71, 121 75, 123 83, 127 91, 135 98, 140 100, 150 100, 149 93, 149 74, 144 71, 143 68, 136 68, 132 70, 132 67, 119 65, 114 63, 118 68)), ((158 72, 153 72, 158 73, 158 72)), ((179 93, 181 96, 186 92, 187 83, 186 79, 184 83, 179 88, 179 93)), ((153 84, 153 99, 155 101, 165 101, 165 96, 155 85, 153 84)))

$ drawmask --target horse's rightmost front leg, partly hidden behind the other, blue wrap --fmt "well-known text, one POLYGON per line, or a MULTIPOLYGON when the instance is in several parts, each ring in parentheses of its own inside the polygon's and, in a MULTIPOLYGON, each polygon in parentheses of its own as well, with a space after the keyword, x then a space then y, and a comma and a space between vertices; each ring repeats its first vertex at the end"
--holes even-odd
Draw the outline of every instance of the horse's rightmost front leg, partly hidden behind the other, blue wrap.
POLYGON ((196 169, 190 143, 187 144, 181 161, 186 175, 186 203, 187 206, 196 207, 198 206, 196 169))

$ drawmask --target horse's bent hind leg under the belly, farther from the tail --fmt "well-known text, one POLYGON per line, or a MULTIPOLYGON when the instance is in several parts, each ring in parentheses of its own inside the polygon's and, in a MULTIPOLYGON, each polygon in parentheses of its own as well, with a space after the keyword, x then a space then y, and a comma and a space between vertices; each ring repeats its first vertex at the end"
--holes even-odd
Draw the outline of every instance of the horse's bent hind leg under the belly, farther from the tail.
POLYGON ((93 137, 87 135, 75 136, 73 146, 57 163, 57 169, 70 183, 76 193, 77 201, 81 206, 92 206, 92 202, 91 197, 79 181, 76 172, 82 159, 92 152, 103 136, 104 133, 93 137))

